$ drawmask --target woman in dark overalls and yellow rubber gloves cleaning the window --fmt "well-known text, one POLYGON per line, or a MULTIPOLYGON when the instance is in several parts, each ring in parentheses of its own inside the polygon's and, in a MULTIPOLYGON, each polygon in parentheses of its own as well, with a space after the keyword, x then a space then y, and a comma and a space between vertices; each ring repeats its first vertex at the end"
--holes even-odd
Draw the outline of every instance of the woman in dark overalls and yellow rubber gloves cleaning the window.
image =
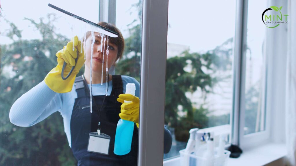
MULTIPOLYGON (((93 40, 91 32, 87 32, 86 40, 78 41, 78 38, 75 37, 71 42, 67 43, 67 46, 57 52, 57 66, 46 75, 43 82, 15 101, 10 110, 9 118, 17 126, 28 127, 39 123, 58 110, 63 117, 69 146, 78 160, 78 165, 137 165, 137 125, 134 126, 131 152, 118 156, 113 153, 113 150, 118 120, 122 118, 139 123, 139 82, 128 76, 106 75, 105 69, 107 65, 109 72, 112 73, 115 62, 122 57, 124 40, 120 31, 114 25, 105 22, 99 22, 99 25, 118 32, 119 36, 117 38, 107 38, 105 47, 101 50, 101 37, 98 32, 94 32, 95 38, 92 52, 93 112, 90 111, 89 95, 91 45, 93 40), (81 42, 83 42, 84 48, 82 50, 81 42), (109 45, 108 61, 106 56, 107 42, 109 45), (75 46, 74 51, 73 45, 75 46), (84 60, 84 50, 86 60, 84 60), (77 56, 78 61, 75 66, 77 56), (72 74, 66 80, 61 78, 64 62, 67 63, 64 76, 69 73, 72 66, 75 66, 72 74), (83 64, 85 64, 83 76, 76 77, 83 64), (101 82, 102 75, 103 81, 101 82), (125 93, 127 83, 136 85, 135 96, 120 95, 125 93), (106 84, 108 86, 107 96, 105 95, 106 84), (132 102, 126 104, 123 103, 124 100, 132 102), (87 151, 89 133, 96 132, 98 128, 102 133, 110 136, 108 155, 87 151)), ((171 142, 170 132, 165 128, 165 153, 170 150, 171 142)))

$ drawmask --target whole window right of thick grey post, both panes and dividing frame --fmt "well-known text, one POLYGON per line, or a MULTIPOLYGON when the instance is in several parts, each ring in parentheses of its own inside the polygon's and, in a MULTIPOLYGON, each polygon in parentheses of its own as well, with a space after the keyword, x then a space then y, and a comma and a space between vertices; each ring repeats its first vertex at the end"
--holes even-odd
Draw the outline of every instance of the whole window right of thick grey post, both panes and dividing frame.
POLYGON ((268 137, 266 27, 259 26, 266 1, 190 4, 169 2, 165 123, 174 138, 164 159, 186 147, 191 128, 226 133, 242 147, 268 137))

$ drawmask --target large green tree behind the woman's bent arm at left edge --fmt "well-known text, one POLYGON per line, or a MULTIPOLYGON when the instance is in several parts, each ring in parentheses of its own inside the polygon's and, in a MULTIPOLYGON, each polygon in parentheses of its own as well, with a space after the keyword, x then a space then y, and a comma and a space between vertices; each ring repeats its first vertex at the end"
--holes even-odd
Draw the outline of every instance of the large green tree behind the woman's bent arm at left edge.
POLYGON ((13 39, 12 44, 2 45, 1 66, 12 66, 13 77, 1 71, 0 87, 0 165, 76 165, 76 160, 68 146, 63 120, 59 113, 54 113, 46 120, 31 126, 18 127, 10 123, 11 105, 22 94, 41 82, 48 71, 56 66, 55 53, 69 39, 57 34, 53 22, 56 17, 48 14, 48 22, 44 18, 36 23, 36 32, 41 40, 23 40, 21 31, 12 23, 7 36, 13 39), (48 56, 45 55, 48 53, 48 56))

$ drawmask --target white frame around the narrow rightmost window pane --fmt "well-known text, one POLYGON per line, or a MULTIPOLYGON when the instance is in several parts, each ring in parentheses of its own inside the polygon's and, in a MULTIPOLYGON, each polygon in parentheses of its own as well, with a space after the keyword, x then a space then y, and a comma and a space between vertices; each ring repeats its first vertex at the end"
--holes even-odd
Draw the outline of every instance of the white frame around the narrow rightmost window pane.
MULTIPOLYGON (((236 42, 236 46, 235 48, 239 48, 240 52, 235 52, 237 53, 235 55, 235 57, 239 57, 239 60, 237 60, 235 63, 237 63, 237 68, 235 68, 234 71, 238 71, 238 73, 236 73, 236 80, 237 83, 234 84, 236 87, 235 89, 239 89, 236 91, 236 95, 234 96, 234 103, 236 103, 236 107, 234 108, 234 112, 238 113, 239 115, 239 123, 234 123, 234 125, 238 125, 238 131, 233 131, 233 136, 237 136, 237 142, 232 142, 233 144, 237 144, 239 145, 239 147, 241 147, 242 149, 249 149, 255 146, 258 146, 259 144, 262 144, 264 141, 268 141, 269 139, 269 135, 270 135, 270 125, 269 124, 269 113, 270 111, 266 111, 266 107, 265 107, 265 100, 266 100, 266 61, 263 61, 263 67, 265 68, 265 71, 263 72, 263 89, 259 89, 262 90, 262 98, 264 100, 262 100, 261 102, 261 110, 263 112, 266 112, 265 115, 265 130, 264 131, 260 131, 260 132, 256 132, 256 133, 252 133, 252 134, 247 134, 244 135, 244 126, 245 126, 245 73, 246 73, 246 51, 247 51, 247 15, 248 15, 248 0, 240 0, 237 1, 237 4, 239 4, 239 6, 237 6, 238 8, 238 12, 237 14, 241 14, 241 15, 237 15, 237 16, 241 16, 241 17, 237 17, 237 19, 241 19, 237 20, 237 23, 240 25, 239 28, 240 33, 241 34, 236 34, 236 40, 238 42, 236 42), (240 79, 238 81, 238 79, 240 79), (238 99, 238 100, 237 100, 238 99)), ((260 26, 260 25, 258 25, 260 26)), ((265 40, 266 41, 266 40, 265 40)), ((266 43, 265 43, 265 47, 266 48, 266 43)), ((266 50, 266 49, 265 49, 266 50)), ((266 52, 266 51, 264 51, 266 52)), ((263 55, 264 57, 266 57, 265 55, 263 55)), ((263 60, 266 60, 266 58, 263 58, 263 60)), ((262 121, 261 121, 262 122, 262 121)))

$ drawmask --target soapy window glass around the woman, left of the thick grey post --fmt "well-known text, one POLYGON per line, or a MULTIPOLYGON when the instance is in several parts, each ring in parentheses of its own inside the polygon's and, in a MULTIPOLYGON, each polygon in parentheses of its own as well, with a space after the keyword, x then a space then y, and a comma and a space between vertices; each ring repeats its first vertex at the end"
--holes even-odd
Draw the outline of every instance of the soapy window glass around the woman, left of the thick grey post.
MULTIPOLYGON (((140 82, 142 2, 115 2, 104 8, 116 9, 108 17, 115 20, 113 23, 125 39, 126 49, 117 62, 115 74, 140 82)), ((21 1, 17 5, 1 1, 0 165, 77 165, 69 147, 69 135, 65 134, 69 128, 65 120, 67 114, 62 109, 48 113, 46 119, 37 116, 31 123, 33 126, 26 124, 30 127, 18 127, 9 119, 12 104, 42 82, 57 65, 57 51, 74 35, 83 39, 83 34, 89 30, 85 23, 48 7, 48 3, 92 22, 99 21, 99 1, 21 1)), ((84 67, 77 76, 83 71, 84 67)), ((139 94, 139 90, 136 89, 136 93, 139 94)), ((137 144, 135 146, 137 148, 137 144)))

